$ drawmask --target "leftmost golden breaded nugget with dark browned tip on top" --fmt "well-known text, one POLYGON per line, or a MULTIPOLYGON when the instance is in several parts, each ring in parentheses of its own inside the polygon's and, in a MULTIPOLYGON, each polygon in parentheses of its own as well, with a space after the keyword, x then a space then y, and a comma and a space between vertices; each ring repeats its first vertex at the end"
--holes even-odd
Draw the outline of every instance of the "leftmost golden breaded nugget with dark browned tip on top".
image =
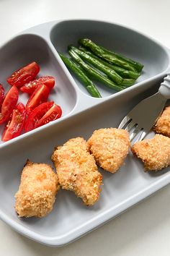
POLYGON ((58 189, 58 176, 48 164, 27 161, 15 195, 19 217, 46 216, 53 209, 58 189))

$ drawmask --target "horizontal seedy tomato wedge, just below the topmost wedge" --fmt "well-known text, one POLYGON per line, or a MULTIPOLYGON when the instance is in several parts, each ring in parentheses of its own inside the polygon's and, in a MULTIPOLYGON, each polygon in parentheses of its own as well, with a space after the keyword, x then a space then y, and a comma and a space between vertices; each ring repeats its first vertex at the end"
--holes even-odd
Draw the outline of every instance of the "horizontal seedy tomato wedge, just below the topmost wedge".
POLYGON ((55 79, 54 77, 50 77, 50 76, 43 76, 40 78, 37 78, 31 82, 28 82, 27 84, 24 84, 22 86, 22 88, 20 88, 20 90, 23 93, 33 93, 35 91, 35 89, 38 87, 38 85, 46 85, 49 89, 52 89, 55 85, 55 79))

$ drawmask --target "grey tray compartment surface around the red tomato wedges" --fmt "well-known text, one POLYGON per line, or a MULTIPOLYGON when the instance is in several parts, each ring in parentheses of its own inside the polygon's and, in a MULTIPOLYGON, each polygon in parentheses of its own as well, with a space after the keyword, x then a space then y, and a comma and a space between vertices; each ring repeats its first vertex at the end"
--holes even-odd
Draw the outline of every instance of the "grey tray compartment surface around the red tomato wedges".
MULTIPOLYGON (((60 105, 63 109, 63 116, 66 116, 76 105, 76 90, 63 72, 48 43, 38 35, 19 35, 0 48, 1 84, 4 85, 6 91, 9 90, 11 86, 7 84, 6 78, 32 61, 37 61, 40 65, 38 77, 42 75, 55 77, 55 87, 50 92, 49 100, 60 105)), ((27 93, 19 93, 19 101, 27 103, 27 99, 27 93)), ((0 135, 2 129, 3 125, 0 126, 0 135)))

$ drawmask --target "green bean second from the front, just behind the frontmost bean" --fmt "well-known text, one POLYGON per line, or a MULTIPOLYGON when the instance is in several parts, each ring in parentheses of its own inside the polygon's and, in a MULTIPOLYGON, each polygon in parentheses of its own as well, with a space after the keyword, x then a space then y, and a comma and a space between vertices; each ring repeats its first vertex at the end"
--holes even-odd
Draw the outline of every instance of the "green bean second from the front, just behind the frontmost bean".
POLYGON ((86 74, 88 76, 95 78, 99 82, 103 82, 109 88, 112 88, 112 89, 115 89, 115 90, 118 90, 118 91, 123 89, 120 86, 115 85, 115 83, 112 82, 112 80, 109 80, 109 78, 106 75, 101 74, 96 69, 94 69, 93 67, 89 66, 89 64, 86 64, 86 62, 84 62, 81 59, 81 57, 78 54, 76 54, 75 51, 69 50, 68 53, 73 58, 73 60, 76 61, 81 66, 81 68, 83 68, 86 71, 86 74))

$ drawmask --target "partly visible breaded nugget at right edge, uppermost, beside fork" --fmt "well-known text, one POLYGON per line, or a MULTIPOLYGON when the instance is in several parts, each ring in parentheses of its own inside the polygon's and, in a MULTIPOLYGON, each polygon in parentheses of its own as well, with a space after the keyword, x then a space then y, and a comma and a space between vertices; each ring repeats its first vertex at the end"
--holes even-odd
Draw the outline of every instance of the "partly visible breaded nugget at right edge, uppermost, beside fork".
POLYGON ((170 106, 167 106, 156 121, 153 129, 157 133, 170 137, 170 106))

